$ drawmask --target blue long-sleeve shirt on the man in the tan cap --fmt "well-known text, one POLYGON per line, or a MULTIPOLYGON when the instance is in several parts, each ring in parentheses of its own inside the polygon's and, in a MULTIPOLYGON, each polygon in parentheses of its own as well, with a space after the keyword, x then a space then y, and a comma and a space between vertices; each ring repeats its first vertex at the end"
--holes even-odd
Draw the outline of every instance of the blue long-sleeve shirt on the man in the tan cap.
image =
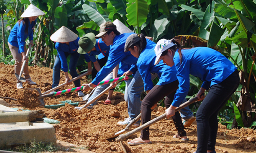
POLYGON ((93 84, 97 85, 102 81, 120 62, 122 62, 122 64, 131 65, 129 70, 132 72, 137 70, 136 63, 138 58, 135 58, 130 52, 123 52, 126 39, 132 34, 134 33, 124 33, 115 36, 113 44, 110 46, 108 61, 97 73, 96 77, 92 81, 93 84))

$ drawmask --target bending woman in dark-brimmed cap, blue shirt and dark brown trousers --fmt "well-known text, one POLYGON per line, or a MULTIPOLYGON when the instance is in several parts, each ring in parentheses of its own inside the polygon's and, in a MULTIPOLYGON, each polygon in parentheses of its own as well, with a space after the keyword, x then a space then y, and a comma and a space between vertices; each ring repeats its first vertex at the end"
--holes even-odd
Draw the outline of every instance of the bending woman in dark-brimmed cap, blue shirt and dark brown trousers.
MULTIPOLYGON (((156 59, 154 52, 155 46, 156 43, 145 39, 143 34, 132 34, 126 39, 125 42, 124 52, 130 51, 133 56, 138 58, 137 68, 144 82, 144 90, 147 92, 147 95, 144 97, 141 104, 141 124, 145 124, 151 120, 152 109, 154 109, 158 101, 163 99, 165 96, 165 107, 168 108, 170 106, 179 84, 176 77, 177 72, 175 68, 170 68, 163 62, 154 65, 156 59), (159 76, 159 82, 156 86, 154 86, 152 82, 151 73, 157 73, 159 76)), ((130 74, 125 72, 124 75, 130 74)), ((179 112, 175 113, 173 116, 173 121, 178 131, 175 138, 188 140, 179 112)), ((131 140, 128 142, 128 144, 138 145, 143 143, 151 143, 149 130, 150 127, 146 127, 141 131, 141 136, 139 138, 131 140)))

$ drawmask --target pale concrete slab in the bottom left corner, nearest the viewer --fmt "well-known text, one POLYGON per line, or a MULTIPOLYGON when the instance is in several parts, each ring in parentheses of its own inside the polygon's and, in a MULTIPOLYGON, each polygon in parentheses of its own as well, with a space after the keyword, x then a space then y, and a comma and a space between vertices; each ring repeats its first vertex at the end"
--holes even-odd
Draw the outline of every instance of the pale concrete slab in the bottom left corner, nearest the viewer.
POLYGON ((31 142, 56 143, 55 129, 49 123, 0 123, 0 147, 31 142))

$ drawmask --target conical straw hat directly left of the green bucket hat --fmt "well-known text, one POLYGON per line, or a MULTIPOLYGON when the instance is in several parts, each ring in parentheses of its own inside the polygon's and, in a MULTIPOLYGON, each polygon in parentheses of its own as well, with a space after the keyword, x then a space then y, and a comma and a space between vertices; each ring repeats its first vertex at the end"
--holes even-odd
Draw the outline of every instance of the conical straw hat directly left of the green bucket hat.
POLYGON ((55 42, 71 42, 77 39, 77 35, 71 30, 62 26, 54 34, 51 35, 50 39, 55 42))

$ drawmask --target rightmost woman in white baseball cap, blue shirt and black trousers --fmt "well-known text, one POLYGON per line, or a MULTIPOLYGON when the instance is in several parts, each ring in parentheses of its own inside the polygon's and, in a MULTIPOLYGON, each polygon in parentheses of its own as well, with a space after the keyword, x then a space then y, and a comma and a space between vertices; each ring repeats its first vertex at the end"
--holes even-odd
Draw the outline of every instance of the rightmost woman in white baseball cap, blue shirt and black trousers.
POLYGON ((177 70, 179 89, 172 105, 166 109, 166 117, 175 114, 182 99, 189 90, 189 74, 199 77, 203 84, 197 93, 203 101, 196 114, 198 145, 196 152, 215 153, 216 136, 218 131, 219 110, 238 88, 240 78, 237 67, 217 50, 207 47, 181 48, 175 39, 161 39, 157 42, 155 64, 160 60, 177 70), (210 89, 209 89, 210 88, 210 89), (205 90, 208 94, 204 96, 205 90))

